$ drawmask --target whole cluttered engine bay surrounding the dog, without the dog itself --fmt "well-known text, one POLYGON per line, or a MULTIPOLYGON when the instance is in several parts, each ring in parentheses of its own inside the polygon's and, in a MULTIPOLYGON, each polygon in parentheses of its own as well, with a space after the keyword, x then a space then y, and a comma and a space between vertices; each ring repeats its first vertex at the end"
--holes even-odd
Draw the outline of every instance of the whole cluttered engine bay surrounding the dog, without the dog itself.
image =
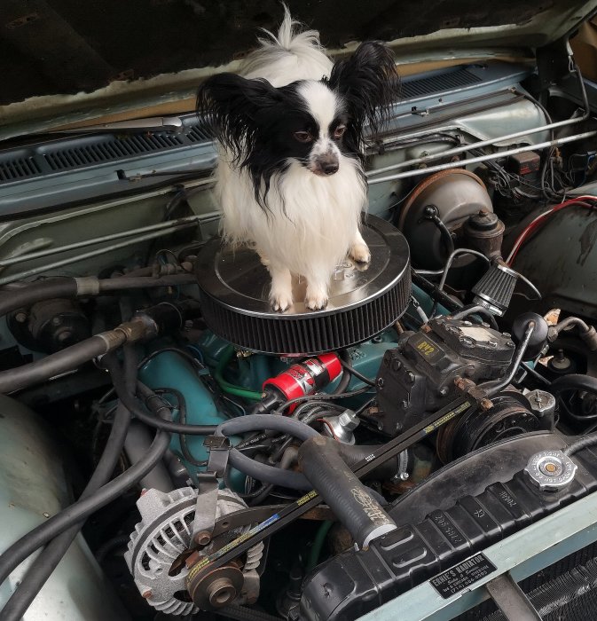
POLYGON ((219 238, 208 119, 0 151, 0 619, 356 619, 597 490, 597 86, 548 65, 403 78, 322 311, 219 238))

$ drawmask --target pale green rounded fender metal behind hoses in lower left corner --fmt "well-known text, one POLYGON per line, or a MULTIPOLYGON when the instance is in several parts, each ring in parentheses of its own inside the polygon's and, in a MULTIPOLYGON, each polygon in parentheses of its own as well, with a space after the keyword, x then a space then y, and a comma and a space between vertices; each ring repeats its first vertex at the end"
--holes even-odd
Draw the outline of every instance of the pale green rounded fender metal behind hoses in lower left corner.
MULTIPOLYGON (((51 429, 25 405, 0 396, 0 552, 73 501, 67 482, 66 464, 51 441, 51 429)), ((0 608, 35 557, 0 586, 0 608)), ((130 619, 81 535, 23 617, 39 619, 130 619)))

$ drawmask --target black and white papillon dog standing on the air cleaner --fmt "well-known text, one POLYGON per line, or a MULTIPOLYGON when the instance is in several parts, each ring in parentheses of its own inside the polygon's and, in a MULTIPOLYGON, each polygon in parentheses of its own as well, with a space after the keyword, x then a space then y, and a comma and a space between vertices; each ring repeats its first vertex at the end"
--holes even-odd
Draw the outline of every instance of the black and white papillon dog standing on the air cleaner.
POLYGON ((271 275, 271 306, 287 311, 293 274, 305 306, 326 307, 334 270, 370 261, 359 230, 367 207, 364 130, 385 121, 397 68, 381 43, 333 63, 318 32, 295 32, 285 7, 278 36, 264 31, 239 74, 200 86, 197 110, 219 142, 216 200, 224 239, 255 248, 271 275))

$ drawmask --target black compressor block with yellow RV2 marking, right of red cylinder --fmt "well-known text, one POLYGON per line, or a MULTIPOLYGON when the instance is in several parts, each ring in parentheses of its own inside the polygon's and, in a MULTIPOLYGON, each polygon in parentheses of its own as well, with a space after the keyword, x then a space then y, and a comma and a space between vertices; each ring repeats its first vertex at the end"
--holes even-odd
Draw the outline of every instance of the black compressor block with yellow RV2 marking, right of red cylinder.
POLYGON ((377 375, 379 410, 368 420, 395 436, 456 397, 457 377, 475 382, 503 377, 514 351, 510 334, 487 324, 431 319, 386 351, 377 375))

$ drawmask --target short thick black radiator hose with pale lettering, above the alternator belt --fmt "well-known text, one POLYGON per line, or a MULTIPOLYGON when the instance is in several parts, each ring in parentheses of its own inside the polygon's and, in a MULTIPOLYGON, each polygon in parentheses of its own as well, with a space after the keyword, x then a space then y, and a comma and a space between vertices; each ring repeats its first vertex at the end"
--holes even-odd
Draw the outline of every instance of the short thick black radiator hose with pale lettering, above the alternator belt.
POLYGON ((340 453, 326 448, 325 438, 321 436, 303 442, 299 465, 313 488, 350 531, 357 546, 366 548, 373 538, 395 530, 396 523, 373 499, 340 453))

